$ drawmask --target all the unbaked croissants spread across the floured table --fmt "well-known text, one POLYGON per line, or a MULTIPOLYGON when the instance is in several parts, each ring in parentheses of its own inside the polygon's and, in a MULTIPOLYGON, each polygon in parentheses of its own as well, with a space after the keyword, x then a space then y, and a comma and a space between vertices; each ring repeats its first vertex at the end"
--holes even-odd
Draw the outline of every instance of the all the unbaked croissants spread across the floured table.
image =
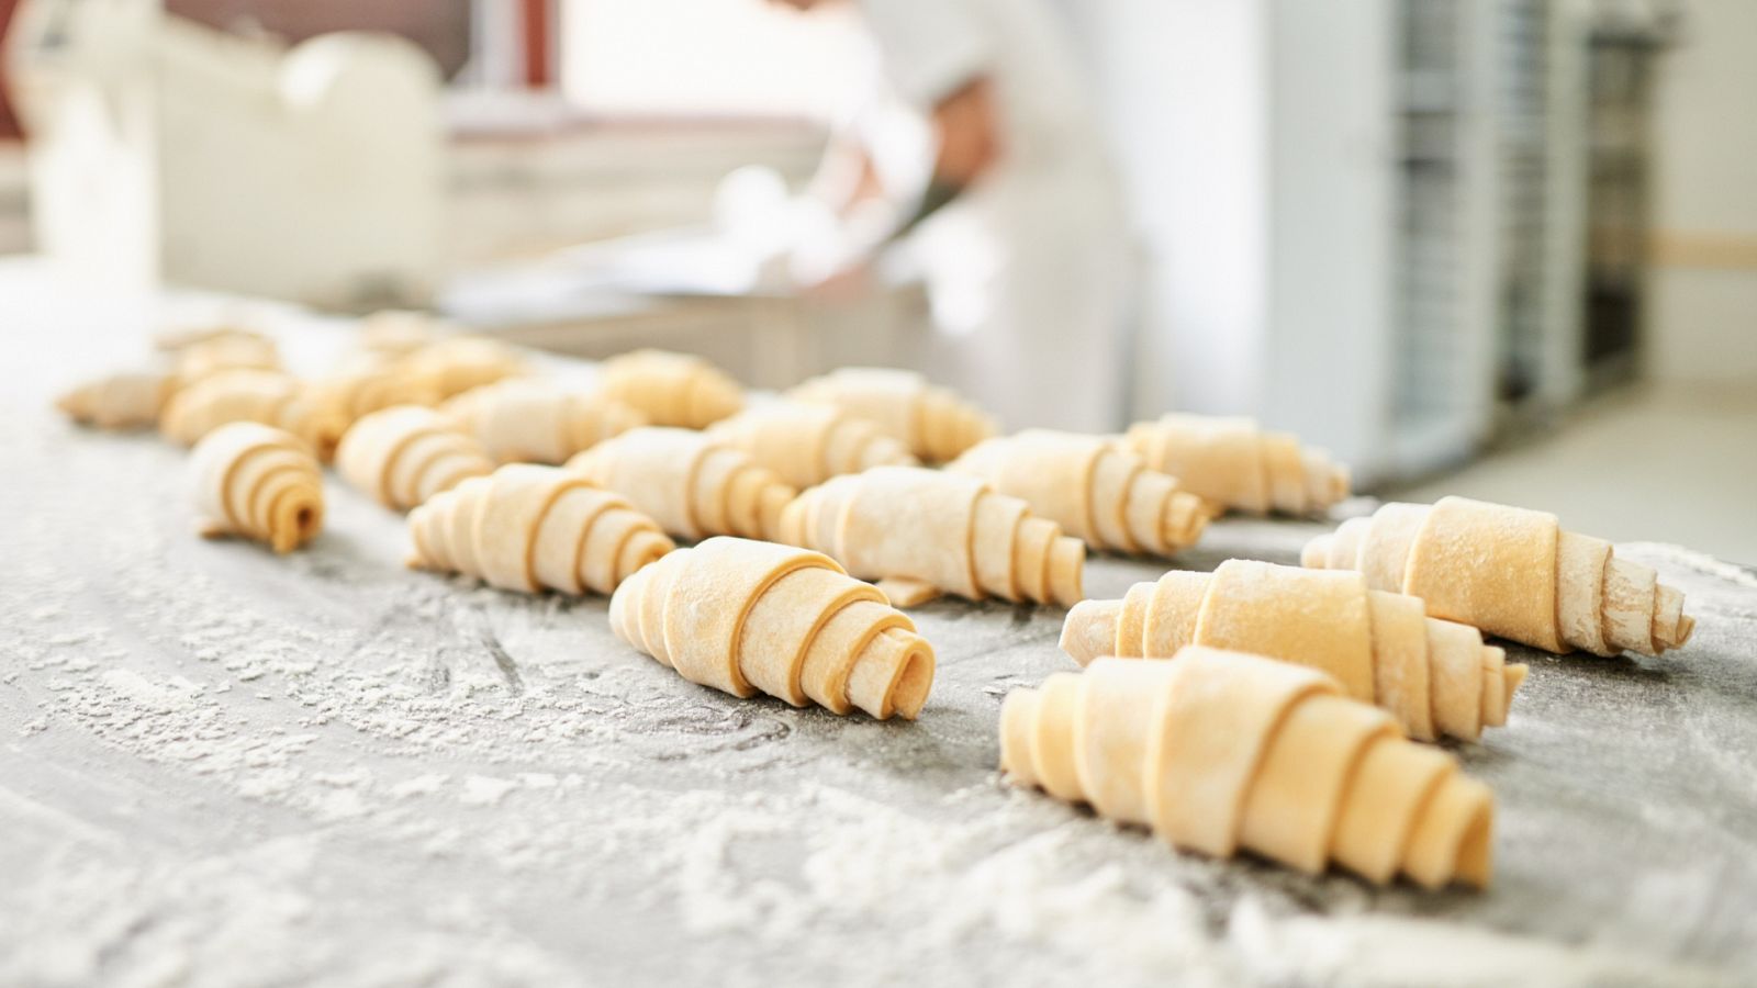
POLYGON ((334 461, 408 512, 411 566, 611 594, 622 640, 734 696, 914 719, 935 657, 900 607, 1066 607, 1061 649, 1084 672, 1007 696, 1001 768, 1218 856, 1483 886, 1493 796, 1416 744, 1506 723, 1527 668, 1483 633, 1609 656, 1660 654, 1694 626, 1609 543, 1462 498, 1348 520, 1304 568, 1233 559, 1084 599, 1088 548, 1168 557, 1223 512, 1321 515, 1348 496, 1323 452, 1247 420, 998 436, 889 369, 747 408, 722 371, 652 350, 578 390, 409 313, 365 320, 322 380, 246 331, 162 348, 163 367, 61 408, 193 445, 206 534, 297 548, 322 529, 334 461))

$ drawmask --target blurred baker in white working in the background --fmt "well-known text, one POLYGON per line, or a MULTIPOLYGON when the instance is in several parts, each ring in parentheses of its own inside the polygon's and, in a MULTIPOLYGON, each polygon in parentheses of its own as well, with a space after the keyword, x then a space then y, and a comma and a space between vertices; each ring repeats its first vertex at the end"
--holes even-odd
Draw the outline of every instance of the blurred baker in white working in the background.
POLYGON ((859 7, 880 79, 812 183, 845 250, 806 280, 849 288, 903 243, 935 322, 912 362, 1009 429, 1116 429, 1132 251, 1066 25, 1044 0, 859 7))

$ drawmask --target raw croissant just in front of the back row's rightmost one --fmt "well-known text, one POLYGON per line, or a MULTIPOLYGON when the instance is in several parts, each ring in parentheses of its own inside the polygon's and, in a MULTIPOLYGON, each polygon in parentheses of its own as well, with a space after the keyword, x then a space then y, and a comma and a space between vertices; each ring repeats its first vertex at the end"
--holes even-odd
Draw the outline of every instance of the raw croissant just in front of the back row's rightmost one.
POLYGON ((945 469, 1024 499, 1093 548, 1170 556, 1207 527, 1200 498, 1102 436, 1026 429, 984 440, 945 469))

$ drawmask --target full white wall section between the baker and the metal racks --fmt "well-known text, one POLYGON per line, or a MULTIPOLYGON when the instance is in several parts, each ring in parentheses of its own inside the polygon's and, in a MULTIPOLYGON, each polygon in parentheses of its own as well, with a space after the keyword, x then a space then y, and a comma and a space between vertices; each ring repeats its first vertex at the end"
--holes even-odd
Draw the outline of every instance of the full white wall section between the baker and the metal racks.
POLYGON ((1256 415, 1370 476, 1390 401, 1390 0, 1068 9, 1146 253, 1135 413, 1256 415))

